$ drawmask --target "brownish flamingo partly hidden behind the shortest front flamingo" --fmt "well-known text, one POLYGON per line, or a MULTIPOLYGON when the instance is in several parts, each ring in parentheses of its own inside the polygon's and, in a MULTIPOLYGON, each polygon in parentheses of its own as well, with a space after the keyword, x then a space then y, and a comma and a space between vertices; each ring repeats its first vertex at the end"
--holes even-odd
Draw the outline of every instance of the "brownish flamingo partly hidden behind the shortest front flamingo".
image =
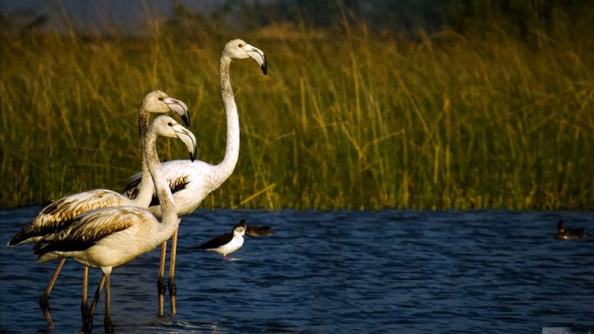
MULTIPOLYGON (((138 133, 142 145, 144 145, 146 132, 148 130, 149 114, 169 112, 177 113, 177 115, 189 125, 189 113, 187 106, 183 101, 168 96, 163 91, 151 91, 145 95, 138 111, 138 133)), ((94 189, 62 197, 62 199, 58 199, 41 209, 31 222, 21 228, 21 230, 14 235, 8 243, 9 247, 23 245, 24 243, 35 243, 43 238, 44 235, 54 233, 55 231, 68 226, 72 219, 79 214, 95 208, 123 205, 141 206, 144 208, 148 207, 153 196, 153 181, 148 177, 150 174, 144 157, 142 169, 143 174, 147 175, 147 177, 145 177, 147 182, 143 182, 143 184, 138 187, 138 194, 135 199, 128 199, 126 196, 122 196, 116 191, 111 191, 109 189, 94 189)), ((43 315, 48 322, 49 328, 54 328, 54 323, 50 314, 49 298, 65 262, 66 258, 63 258, 58 262, 48 286, 39 299, 39 306, 43 311, 43 315)), ((83 322, 85 318, 84 313, 87 310, 88 275, 88 268, 84 267, 81 303, 83 322)), ((83 328, 87 326, 88 325, 83 323, 83 328)))

